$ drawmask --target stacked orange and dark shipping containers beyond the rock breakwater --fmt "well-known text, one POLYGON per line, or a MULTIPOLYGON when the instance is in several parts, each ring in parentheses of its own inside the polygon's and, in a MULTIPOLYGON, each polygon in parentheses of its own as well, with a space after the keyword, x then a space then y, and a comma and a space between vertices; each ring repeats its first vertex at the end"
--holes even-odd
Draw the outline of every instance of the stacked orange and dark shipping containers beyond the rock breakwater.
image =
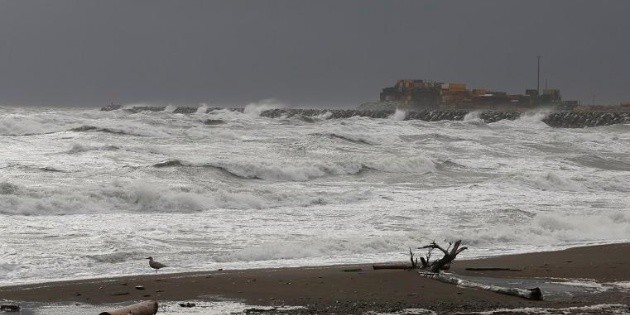
POLYGON ((443 83, 426 80, 398 80, 380 95, 382 103, 396 103, 403 109, 459 110, 483 109, 521 111, 540 106, 572 110, 577 101, 562 101, 560 90, 529 89, 525 94, 508 94, 487 89, 468 89, 464 83, 443 83))

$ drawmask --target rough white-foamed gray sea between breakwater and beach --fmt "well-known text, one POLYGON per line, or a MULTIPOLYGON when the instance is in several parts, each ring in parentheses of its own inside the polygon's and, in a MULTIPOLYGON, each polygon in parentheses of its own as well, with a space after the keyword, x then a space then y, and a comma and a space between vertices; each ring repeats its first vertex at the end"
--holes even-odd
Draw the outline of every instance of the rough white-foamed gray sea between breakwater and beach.
POLYGON ((0 108, 0 284, 630 240, 630 125, 261 109, 0 108))

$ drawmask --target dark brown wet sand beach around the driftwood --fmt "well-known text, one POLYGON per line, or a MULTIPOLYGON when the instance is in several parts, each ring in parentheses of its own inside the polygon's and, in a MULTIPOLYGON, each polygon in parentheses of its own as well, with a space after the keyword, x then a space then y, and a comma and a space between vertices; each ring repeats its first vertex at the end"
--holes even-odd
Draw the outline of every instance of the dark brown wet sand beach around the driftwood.
MULTIPOLYGON (((460 254, 450 272, 490 278, 589 279, 609 286, 630 282, 630 243, 571 248, 465 260, 460 254), (467 268, 501 267, 510 271, 467 268)), ((573 293, 531 301, 423 278, 410 270, 373 270, 372 265, 281 269, 221 270, 76 280, 0 287, 0 301, 104 304, 158 301, 238 300, 253 305, 301 305, 304 313, 362 314, 424 308, 442 313, 499 308, 564 308, 596 304, 630 305, 630 289, 573 293), (136 286, 142 286, 137 289, 136 286)), ((505 281, 505 280, 502 280, 505 281)), ((555 281, 559 281, 556 279, 555 281)), ((501 281, 498 281, 501 282, 501 281)), ((543 290, 543 295, 545 292, 543 290)), ((630 312, 630 310, 628 310, 630 312)))

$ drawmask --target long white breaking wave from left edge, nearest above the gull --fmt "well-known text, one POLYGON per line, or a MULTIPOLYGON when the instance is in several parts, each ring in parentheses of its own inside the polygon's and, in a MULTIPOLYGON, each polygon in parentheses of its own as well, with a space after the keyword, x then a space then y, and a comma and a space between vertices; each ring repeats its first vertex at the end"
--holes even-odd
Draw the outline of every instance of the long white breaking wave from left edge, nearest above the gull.
POLYGON ((270 209, 352 204, 370 198, 365 191, 269 191, 219 187, 169 187, 158 183, 113 183, 107 187, 44 189, 0 183, 0 214, 68 215, 91 213, 193 213, 213 209, 270 209))

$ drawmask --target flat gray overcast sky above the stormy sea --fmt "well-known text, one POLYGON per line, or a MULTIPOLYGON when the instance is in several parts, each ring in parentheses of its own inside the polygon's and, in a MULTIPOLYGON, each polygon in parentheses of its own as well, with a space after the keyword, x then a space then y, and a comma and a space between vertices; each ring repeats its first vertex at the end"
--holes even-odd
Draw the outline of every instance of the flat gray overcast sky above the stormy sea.
POLYGON ((399 78, 630 102, 630 1, 0 0, 0 104, 356 106, 399 78))

